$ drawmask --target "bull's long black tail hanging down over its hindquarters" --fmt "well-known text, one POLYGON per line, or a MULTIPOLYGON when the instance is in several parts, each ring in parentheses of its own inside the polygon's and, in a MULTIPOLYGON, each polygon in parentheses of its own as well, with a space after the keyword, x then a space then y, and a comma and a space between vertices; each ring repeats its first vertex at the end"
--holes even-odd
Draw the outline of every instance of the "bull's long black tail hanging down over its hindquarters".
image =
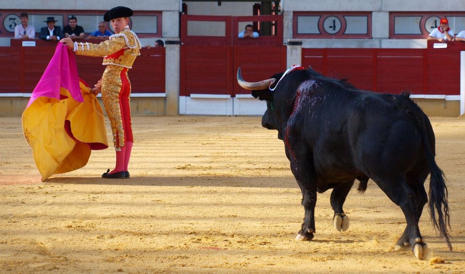
MULTIPOLYGON (((408 98, 408 95, 406 95, 408 98)), ((450 216, 449 216, 449 205, 448 205, 448 191, 445 183, 445 176, 443 171, 437 166, 434 161, 434 153, 431 149, 431 144, 426 133, 426 115, 419 109, 419 107, 411 101, 411 107, 408 108, 407 113, 411 114, 417 124, 417 127, 421 133, 421 141, 423 143, 423 151, 426 156, 426 162, 430 169, 430 191, 429 191, 429 211, 431 222, 433 223, 434 229, 439 230, 441 237, 447 243, 449 250, 452 251, 452 245, 450 244, 450 235, 448 226, 450 228, 450 216), (412 105, 414 106, 412 108, 412 105)))

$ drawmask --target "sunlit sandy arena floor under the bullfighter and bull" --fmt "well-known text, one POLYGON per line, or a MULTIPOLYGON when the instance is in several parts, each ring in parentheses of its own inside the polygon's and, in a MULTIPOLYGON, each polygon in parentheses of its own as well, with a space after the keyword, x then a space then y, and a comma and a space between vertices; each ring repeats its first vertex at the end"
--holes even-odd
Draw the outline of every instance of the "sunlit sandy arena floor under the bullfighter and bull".
POLYGON ((314 240, 295 242, 300 189, 261 117, 133 117, 130 179, 100 178, 114 167, 107 149, 46 182, 20 118, 1 117, 0 273, 465 273, 465 118, 431 121, 454 251, 425 208, 433 254, 420 261, 393 251, 405 219, 372 181, 349 193, 346 232, 332 225, 328 191, 314 240))

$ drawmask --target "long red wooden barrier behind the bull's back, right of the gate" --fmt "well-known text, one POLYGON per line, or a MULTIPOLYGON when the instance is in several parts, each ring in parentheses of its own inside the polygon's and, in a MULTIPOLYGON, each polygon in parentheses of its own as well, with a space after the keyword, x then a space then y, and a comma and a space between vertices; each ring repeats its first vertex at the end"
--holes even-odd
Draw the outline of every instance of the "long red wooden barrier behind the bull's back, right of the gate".
POLYGON ((302 65, 327 77, 348 78, 359 89, 418 95, 460 94, 460 51, 448 48, 302 48, 302 65))

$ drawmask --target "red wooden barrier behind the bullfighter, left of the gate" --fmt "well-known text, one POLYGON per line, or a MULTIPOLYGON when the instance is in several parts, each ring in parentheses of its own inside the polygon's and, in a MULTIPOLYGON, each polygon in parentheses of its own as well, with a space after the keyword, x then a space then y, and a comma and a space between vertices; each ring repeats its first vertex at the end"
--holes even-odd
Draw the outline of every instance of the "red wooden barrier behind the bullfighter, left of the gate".
MULTIPOLYGON (((34 41, 36 47, 21 47, 20 40, 12 40, 12 47, 1 47, 0 62, 8 64, 8 69, 0 75, 0 93, 31 93, 40 80, 56 42, 34 41)), ((128 71, 132 93, 164 93, 165 48, 142 48, 140 54, 128 71)), ((105 69, 102 60, 77 55, 79 77, 93 86, 105 69)))

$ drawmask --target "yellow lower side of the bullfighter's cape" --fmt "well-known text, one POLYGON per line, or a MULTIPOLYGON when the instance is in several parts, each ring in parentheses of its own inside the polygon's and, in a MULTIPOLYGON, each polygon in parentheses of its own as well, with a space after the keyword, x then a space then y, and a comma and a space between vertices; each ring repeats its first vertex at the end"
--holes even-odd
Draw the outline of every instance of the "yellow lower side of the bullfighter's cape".
POLYGON ((79 87, 82 103, 62 88, 60 94, 67 99, 39 97, 23 113, 24 136, 42 181, 85 166, 91 149, 108 147, 102 108, 89 87, 81 81, 79 87))

